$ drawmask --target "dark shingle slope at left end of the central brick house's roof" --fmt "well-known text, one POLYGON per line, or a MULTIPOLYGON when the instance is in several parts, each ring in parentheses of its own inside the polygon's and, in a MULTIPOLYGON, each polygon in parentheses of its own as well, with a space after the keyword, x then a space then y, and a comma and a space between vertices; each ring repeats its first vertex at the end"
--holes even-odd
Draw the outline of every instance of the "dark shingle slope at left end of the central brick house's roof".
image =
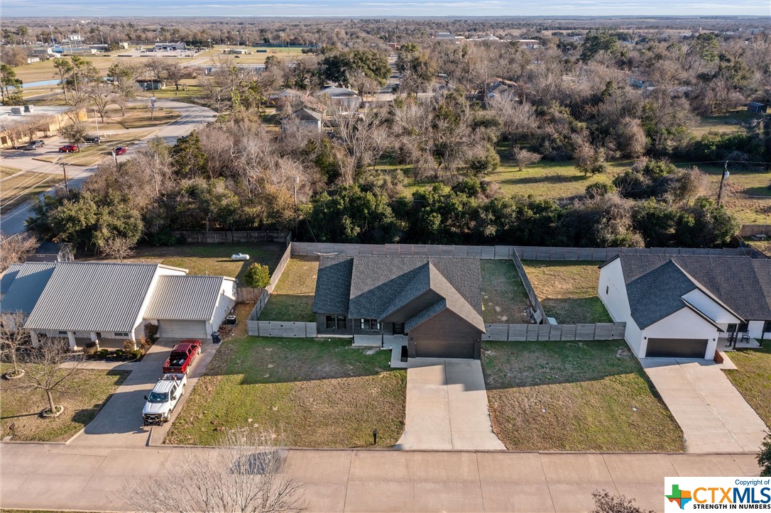
POLYGON ((348 315, 353 257, 321 257, 318 262, 313 311, 348 315))

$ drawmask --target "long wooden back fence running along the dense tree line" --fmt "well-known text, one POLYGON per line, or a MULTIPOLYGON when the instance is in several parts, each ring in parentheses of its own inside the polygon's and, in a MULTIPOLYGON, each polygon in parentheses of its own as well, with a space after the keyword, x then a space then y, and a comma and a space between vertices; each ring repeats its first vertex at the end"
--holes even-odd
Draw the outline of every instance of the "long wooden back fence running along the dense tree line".
POLYGON ((484 260, 513 259, 517 253, 522 260, 611 260, 618 254, 627 255, 747 255, 742 248, 705 249, 678 247, 548 247, 548 246, 443 246, 431 244, 333 244, 291 243, 293 255, 336 254, 341 257, 356 255, 413 255, 416 257, 476 257, 484 260))

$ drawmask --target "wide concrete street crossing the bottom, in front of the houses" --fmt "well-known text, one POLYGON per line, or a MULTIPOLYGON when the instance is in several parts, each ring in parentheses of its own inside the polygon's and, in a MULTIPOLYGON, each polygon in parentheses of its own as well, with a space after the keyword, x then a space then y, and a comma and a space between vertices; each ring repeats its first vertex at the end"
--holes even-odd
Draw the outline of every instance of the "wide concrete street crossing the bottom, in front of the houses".
MULTIPOLYGON (((2 444, 2 508, 120 511, 182 448, 2 444)), ((212 451, 213 449, 201 449, 212 451)), ((284 471, 308 511, 589 511, 608 490, 661 511, 666 476, 756 476, 749 454, 544 454, 290 450, 284 471)))

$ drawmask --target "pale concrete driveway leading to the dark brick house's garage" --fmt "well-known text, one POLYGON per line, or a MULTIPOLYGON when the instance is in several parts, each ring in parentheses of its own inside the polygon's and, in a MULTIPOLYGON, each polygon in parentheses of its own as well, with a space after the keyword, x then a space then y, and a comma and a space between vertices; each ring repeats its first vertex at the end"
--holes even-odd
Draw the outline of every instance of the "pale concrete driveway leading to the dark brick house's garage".
POLYGON ((414 358, 399 449, 505 450, 493 433, 479 360, 414 358))

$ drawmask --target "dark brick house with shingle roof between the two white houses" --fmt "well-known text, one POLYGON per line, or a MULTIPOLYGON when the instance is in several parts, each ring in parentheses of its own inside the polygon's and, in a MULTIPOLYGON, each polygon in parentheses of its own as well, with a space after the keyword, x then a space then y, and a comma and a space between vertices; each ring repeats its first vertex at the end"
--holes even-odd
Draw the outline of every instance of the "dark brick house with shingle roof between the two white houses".
POLYGON ((322 256, 313 311, 319 334, 405 336, 410 357, 478 359, 479 259, 322 256))

